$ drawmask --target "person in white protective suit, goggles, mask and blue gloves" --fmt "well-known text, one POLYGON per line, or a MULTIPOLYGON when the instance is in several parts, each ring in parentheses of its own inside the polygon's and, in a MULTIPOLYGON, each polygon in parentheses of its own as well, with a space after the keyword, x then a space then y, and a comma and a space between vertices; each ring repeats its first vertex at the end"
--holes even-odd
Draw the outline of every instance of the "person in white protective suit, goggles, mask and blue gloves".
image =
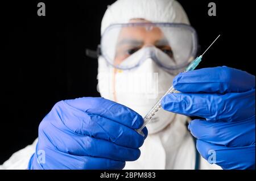
POLYGON ((196 53, 177 1, 116 1, 101 24, 102 98, 56 103, 38 139, 1 169, 255 169, 255 76, 226 66, 181 73, 196 53), (143 116, 172 84, 179 92, 142 136, 143 116))

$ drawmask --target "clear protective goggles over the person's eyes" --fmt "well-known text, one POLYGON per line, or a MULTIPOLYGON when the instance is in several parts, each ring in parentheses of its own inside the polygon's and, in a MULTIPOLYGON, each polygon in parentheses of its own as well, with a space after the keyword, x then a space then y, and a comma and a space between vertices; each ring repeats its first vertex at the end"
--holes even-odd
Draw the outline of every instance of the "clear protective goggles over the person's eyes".
POLYGON ((101 37, 99 52, 117 69, 133 69, 152 58, 163 69, 179 70, 196 57, 197 34, 186 24, 112 24, 101 37))

